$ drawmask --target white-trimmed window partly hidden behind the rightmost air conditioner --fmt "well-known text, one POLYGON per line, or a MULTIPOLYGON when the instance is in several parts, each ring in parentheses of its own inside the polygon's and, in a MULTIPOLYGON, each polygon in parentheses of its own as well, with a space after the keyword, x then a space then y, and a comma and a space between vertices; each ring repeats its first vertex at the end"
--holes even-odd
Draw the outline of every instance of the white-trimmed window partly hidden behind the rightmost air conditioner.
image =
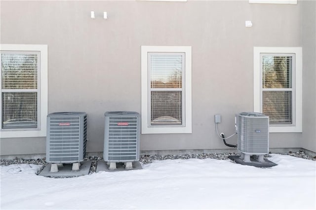
POLYGON ((270 132, 302 132, 302 48, 254 47, 254 111, 270 132))

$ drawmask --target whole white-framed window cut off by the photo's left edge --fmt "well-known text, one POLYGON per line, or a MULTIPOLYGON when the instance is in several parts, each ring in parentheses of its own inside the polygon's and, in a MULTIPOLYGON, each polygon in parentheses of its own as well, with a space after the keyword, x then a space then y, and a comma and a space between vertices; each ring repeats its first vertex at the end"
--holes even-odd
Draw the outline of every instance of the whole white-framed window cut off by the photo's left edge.
POLYGON ((47 45, 1 44, 0 137, 46 136, 47 45))

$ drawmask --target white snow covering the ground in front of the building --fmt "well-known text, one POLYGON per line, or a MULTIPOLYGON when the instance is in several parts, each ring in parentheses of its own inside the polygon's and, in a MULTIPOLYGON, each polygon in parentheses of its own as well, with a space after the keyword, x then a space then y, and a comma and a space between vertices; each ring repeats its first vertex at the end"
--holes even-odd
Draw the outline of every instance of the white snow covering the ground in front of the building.
POLYGON ((74 178, 1 166, 0 209, 316 209, 316 161, 272 154, 272 168, 230 160, 154 161, 74 178))

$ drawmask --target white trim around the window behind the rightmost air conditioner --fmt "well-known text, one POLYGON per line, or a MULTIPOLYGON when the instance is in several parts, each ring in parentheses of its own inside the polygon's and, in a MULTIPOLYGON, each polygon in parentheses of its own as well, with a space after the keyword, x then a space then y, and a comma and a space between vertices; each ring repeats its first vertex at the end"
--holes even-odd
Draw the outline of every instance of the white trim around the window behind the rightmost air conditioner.
POLYGON ((253 110, 262 113, 260 85, 262 84, 260 70, 260 53, 292 53, 295 54, 294 87, 294 117, 293 125, 270 125, 270 133, 300 133, 302 132, 302 47, 254 47, 253 48, 253 110))

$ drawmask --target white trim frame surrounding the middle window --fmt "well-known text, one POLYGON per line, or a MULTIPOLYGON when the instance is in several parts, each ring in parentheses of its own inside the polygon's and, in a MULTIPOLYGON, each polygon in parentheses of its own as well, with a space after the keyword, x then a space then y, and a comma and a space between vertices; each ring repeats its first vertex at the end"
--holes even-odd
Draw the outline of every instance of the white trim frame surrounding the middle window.
POLYGON ((142 96, 142 134, 185 134, 192 133, 192 53, 191 46, 141 46, 141 96, 142 96), (148 53, 185 53, 185 126, 150 127, 148 122, 148 53))

